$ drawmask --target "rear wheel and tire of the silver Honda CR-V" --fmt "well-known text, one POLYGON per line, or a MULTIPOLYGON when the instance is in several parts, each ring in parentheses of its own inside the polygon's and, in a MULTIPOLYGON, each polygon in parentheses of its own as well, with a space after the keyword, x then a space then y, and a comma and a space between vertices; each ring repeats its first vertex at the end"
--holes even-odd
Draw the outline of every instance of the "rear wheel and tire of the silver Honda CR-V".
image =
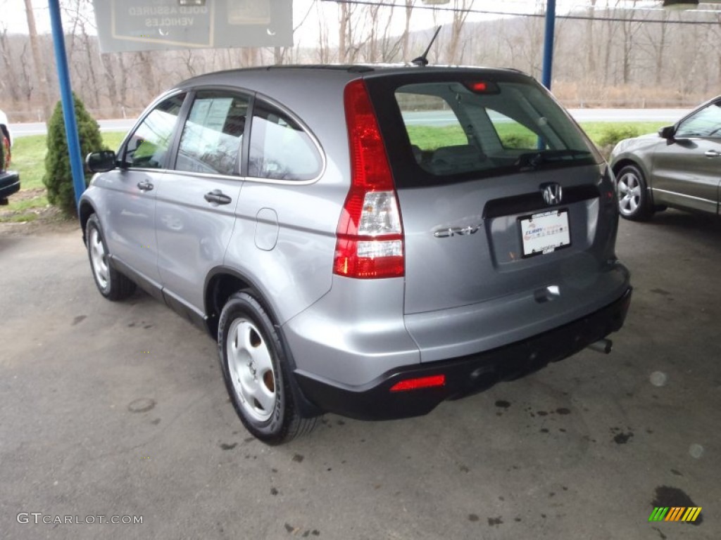
POLYGON ((265 444, 309 433, 291 390, 288 356, 273 321, 250 290, 233 294, 218 320, 218 353, 226 389, 245 428, 265 444))

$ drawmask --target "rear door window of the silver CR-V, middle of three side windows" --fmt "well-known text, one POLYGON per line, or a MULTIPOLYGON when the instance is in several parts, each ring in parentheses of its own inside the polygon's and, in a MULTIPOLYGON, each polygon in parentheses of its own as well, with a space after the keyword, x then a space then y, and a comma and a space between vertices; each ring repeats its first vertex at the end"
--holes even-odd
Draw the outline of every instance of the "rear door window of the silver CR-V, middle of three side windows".
POLYGON ((210 174, 239 174, 249 99, 198 92, 182 130, 175 168, 210 174))

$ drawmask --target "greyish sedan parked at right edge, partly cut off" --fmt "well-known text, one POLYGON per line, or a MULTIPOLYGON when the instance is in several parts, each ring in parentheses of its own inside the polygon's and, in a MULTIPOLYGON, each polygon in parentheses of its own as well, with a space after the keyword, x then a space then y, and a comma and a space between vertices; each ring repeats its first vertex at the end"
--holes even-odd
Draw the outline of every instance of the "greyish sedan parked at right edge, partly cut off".
POLYGON ((721 96, 658 135, 622 140, 611 153, 619 211, 645 221, 667 207, 718 215, 721 96))

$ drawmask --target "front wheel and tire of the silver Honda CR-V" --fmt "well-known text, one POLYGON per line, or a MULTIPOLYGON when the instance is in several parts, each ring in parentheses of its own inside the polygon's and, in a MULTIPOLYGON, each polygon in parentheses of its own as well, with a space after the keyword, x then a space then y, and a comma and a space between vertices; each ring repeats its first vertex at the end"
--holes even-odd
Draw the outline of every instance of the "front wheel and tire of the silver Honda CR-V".
POLYGON ((107 300, 123 300, 135 292, 136 284, 112 268, 108 258, 105 235, 96 215, 91 215, 85 225, 90 269, 97 289, 107 300))

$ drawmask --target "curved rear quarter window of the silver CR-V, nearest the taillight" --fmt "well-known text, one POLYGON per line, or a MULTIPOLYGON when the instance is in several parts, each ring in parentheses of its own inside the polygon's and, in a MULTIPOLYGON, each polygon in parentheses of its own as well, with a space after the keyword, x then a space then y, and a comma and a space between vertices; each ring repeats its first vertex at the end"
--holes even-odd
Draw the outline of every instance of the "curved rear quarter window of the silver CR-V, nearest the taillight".
POLYGON ((312 180, 322 169, 310 135, 288 114, 257 100, 253 106, 248 176, 273 180, 312 180))

